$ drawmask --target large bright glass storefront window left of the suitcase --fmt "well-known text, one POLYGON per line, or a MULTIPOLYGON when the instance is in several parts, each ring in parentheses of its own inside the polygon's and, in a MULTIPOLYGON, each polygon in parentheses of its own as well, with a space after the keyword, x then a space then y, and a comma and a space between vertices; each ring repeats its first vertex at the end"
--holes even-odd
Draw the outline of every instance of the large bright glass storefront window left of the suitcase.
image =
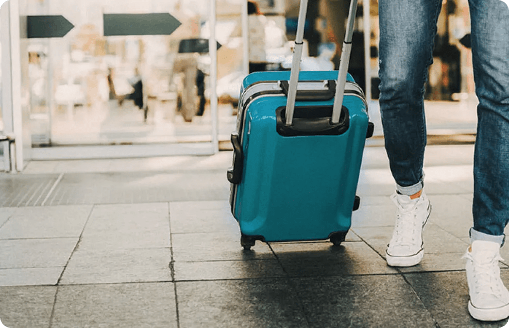
POLYGON ((20 0, 21 15, 63 15, 63 38, 30 39, 32 143, 211 141, 208 53, 179 53, 209 17, 201 0, 20 0), (171 35, 104 36, 103 14, 170 13, 171 35), (203 74, 202 74, 203 73, 203 74))

